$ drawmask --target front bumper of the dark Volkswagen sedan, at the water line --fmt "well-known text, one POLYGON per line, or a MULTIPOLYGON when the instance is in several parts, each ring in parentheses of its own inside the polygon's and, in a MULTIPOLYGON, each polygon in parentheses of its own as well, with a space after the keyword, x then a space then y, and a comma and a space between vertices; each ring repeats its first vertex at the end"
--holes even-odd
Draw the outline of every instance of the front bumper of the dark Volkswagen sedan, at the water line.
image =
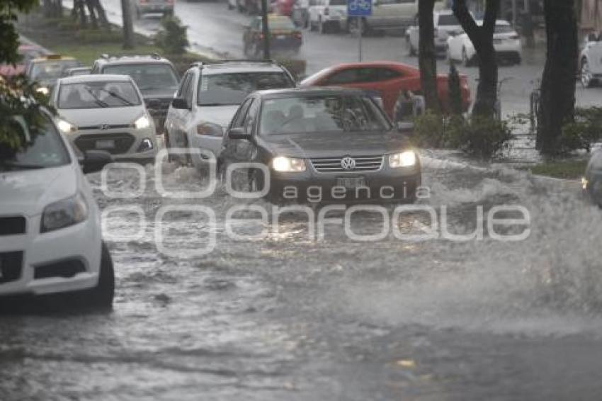
POLYGON ((392 169, 384 166, 380 171, 319 173, 307 166, 302 173, 277 173, 271 171, 269 196, 274 200, 299 203, 390 203, 413 202, 416 188, 421 186, 421 167, 392 169), (363 178, 365 186, 346 188, 345 196, 338 179, 363 178), (296 188, 297 197, 292 197, 296 188), (334 189, 338 188, 338 189, 334 189))

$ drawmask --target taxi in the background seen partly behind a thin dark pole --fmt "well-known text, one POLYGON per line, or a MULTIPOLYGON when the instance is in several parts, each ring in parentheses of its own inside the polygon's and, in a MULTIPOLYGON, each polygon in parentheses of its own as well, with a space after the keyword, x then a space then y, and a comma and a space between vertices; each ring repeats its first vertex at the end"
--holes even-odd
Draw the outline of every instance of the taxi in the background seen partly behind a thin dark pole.
MULTIPOLYGON (((303 45, 303 34, 288 17, 270 16, 270 47, 274 52, 298 53, 303 45)), ((263 54, 263 21, 255 17, 242 33, 243 52, 246 56, 261 58, 263 54)))

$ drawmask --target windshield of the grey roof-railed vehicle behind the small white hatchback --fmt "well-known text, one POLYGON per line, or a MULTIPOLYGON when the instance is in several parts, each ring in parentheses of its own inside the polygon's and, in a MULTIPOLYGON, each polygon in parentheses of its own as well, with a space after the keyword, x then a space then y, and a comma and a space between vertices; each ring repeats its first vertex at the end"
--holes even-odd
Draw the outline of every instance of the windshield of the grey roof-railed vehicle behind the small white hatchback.
POLYGON ((169 64, 109 65, 103 69, 103 74, 129 75, 141 91, 178 89, 178 77, 169 64))

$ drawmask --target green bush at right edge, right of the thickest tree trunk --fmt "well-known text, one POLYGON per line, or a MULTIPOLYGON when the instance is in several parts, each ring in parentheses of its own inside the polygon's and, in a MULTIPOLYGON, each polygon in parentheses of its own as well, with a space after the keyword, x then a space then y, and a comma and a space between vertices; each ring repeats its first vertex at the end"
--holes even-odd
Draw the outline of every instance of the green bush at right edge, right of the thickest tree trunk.
POLYGON ((574 122, 562 127, 558 138, 558 153, 567 154, 578 149, 591 149, 591 144, 602 137, 602 107, 575 109, 574 122))

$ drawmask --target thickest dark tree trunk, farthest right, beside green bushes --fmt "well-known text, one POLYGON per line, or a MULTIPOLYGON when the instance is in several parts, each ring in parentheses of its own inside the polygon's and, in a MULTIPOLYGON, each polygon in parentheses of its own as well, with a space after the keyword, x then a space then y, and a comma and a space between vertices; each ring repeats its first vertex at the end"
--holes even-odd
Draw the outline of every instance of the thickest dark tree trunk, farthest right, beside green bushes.
POLYGON ((537 147, 548 155, 558 151, 562 126, 574 121, 579 57, 574 6, 574 0, 544 2, 547 55, 541 81, 537 147))

